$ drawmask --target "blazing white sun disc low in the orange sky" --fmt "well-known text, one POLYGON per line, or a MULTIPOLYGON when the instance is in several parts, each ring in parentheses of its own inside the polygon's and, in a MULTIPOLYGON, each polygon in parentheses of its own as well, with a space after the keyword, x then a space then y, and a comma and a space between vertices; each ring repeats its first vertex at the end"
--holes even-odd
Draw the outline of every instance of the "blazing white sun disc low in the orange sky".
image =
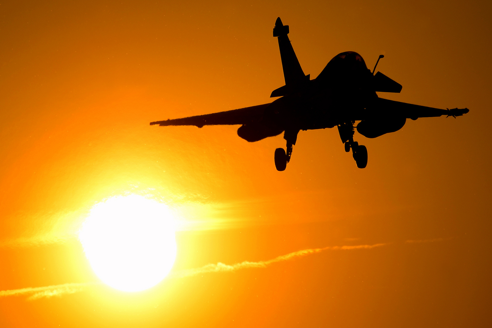
POLYGON ((138 195, 112 197, 96 204, 79 231, 95 274, 126 292, 153 287, 176 259, 169 209, 138 195))

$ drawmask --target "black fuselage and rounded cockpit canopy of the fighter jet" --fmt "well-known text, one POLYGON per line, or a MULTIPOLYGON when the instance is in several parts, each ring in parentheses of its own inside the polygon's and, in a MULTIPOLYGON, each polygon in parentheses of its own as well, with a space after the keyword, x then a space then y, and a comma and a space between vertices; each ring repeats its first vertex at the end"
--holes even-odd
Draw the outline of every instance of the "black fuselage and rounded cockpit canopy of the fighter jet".
POLYGON ((266 119, 284 129, 331 128, 347 121, 362 120, 377 94, 372 73, 359 54, 344 52, 328 62, 314 80, 296 86, 275 100, 266 119))

